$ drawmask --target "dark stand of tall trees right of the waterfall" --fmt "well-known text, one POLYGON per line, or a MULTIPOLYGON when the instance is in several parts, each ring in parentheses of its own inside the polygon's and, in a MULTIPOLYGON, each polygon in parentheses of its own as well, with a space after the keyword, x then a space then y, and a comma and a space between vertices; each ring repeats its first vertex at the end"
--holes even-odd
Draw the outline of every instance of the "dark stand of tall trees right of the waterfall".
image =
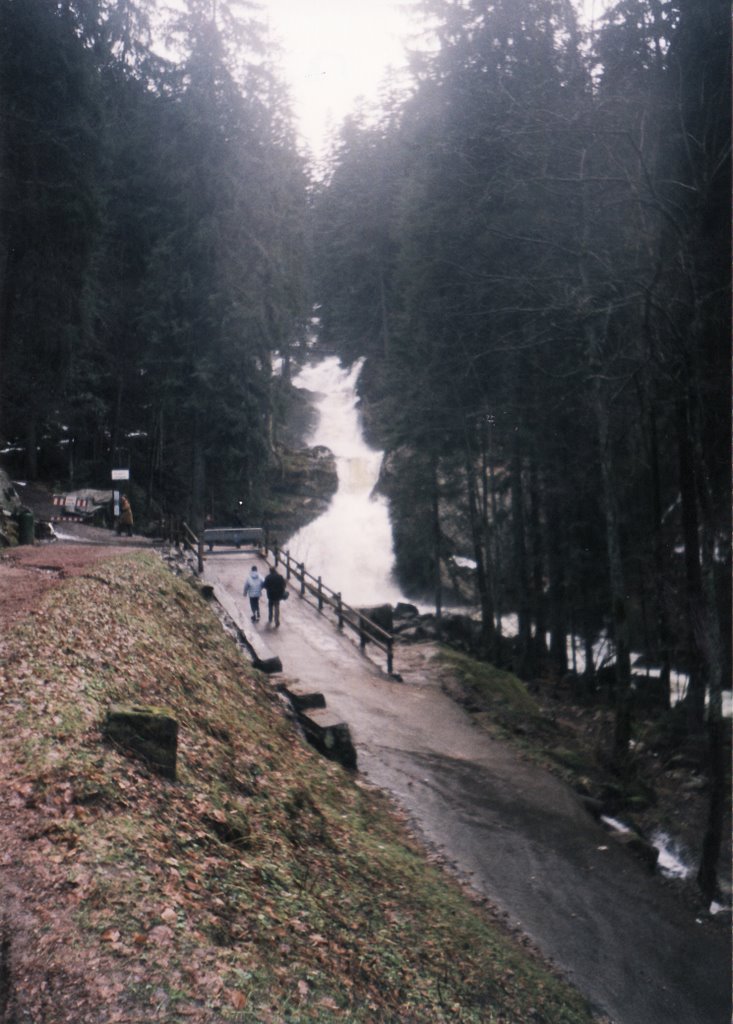
POLYGON ((420 7, 413 94, 344 127, 313 199, 321 335, 366 355, 407 481, 398 569, 440 604, 450 496, 488 657, 508 609, 524 678, 607 630, 622 700, 634 645, 701 722, 730 679, 725 6, 624 0, 590 46, 562 0, 420 7))

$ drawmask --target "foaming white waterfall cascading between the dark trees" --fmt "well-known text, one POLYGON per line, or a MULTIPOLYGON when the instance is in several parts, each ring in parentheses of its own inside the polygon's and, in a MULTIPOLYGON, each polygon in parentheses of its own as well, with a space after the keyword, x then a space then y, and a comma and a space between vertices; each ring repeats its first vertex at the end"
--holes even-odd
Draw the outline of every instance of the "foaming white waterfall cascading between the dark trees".
POLYGON ((328 510, 289 542, 291 555, 355 606, 404 600, 392 580, 394 549, 387 502, 373 490, 382 453, 363 439, 356 410, 356 381, 363 360, 351 370, 336 356, 304 367, 293 383, 316 392, 318 424, 309 444, 325 444, 336 457, 339 486, 328 510))

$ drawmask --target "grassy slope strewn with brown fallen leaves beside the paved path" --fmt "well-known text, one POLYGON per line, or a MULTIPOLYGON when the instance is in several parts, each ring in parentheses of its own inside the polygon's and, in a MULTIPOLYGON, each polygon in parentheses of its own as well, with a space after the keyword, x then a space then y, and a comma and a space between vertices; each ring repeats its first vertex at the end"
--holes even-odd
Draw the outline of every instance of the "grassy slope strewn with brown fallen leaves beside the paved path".
POLYGON ((18 943, 17 1019, 590 1021, 383 799, 301 741, 155 557, 64 582, 4 640, 0 738, 35 822, 25 870, 48 890, 50 966, 39 980, 18 943), (176 783, 102 742, 113 701, 176 716, 176 783))

